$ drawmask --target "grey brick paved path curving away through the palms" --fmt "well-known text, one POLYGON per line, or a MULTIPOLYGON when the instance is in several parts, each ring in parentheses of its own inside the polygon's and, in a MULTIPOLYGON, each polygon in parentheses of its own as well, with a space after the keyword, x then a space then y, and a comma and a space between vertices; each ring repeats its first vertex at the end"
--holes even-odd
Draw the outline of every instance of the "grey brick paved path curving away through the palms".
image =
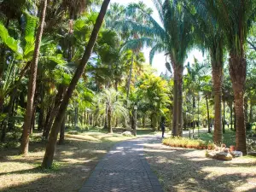
POLYGON ((143 137, 118 143, 105 155, 80 192, 160 192, 160 183, 143 157, 143 137))

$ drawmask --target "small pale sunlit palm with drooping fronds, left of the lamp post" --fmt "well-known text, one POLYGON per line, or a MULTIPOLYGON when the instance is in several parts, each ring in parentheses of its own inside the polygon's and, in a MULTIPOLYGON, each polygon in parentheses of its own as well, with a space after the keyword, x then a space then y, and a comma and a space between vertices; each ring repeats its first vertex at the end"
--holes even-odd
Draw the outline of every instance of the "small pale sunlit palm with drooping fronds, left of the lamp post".
POLYGON ((106 103, 107 112, 108 112, 108 132, 112 133, 112 125, 111 119, 113 115, 123 116, 125 119, 128 117, 128 110, 123 107, 123 102, 121 100, 117 100, 119 97, 119 92, 114 90, 113 88, 105 89, 102 91, 102 101, 106 103))

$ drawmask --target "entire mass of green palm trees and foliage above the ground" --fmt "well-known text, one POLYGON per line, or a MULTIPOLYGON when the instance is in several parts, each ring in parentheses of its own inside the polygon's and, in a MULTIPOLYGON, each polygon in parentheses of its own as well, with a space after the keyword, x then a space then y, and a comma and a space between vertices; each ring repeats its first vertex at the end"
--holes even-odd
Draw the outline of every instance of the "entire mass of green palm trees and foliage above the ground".
POLYGON ((44 158, 53 158, 59 131, 63 143, 67 129, 158 130, 165 116, 174 136, 214 125, 217 144, 229 124, 247 153, 246 125, 256 118, 255 1, 153 2, 160 23, 143 2, 0 1, 1 146, 21 141, 26 154, 39 131, 49 141, 44 158), (150 62, 166 54, 166 74, 145 63, 145 46, 150 62), (185 63, 192 49, 205 61, 185 63))

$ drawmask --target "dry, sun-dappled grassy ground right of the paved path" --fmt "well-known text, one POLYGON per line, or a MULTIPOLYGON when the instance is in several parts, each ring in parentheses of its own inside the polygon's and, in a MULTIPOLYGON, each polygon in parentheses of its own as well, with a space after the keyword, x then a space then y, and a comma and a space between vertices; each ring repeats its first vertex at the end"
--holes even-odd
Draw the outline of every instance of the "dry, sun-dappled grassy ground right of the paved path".
POLYGON ((148 163, 167 192, 256 191, 256 159, 211 160, 204 150, 145 146, 148 163))

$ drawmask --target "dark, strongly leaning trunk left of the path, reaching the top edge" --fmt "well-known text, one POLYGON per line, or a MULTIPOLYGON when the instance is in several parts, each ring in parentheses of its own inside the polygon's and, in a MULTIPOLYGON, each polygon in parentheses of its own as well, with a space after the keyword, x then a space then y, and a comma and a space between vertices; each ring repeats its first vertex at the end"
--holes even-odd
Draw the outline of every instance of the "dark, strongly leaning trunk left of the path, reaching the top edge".
POLYGON ((64 115, 65 115, 65 112, 67 109, 69 99, 71 98, 71 96, 73 94, 73 90, 75 89, 76 84, 78 84, 81 75, 84 73, 84 68, 86 67, 86 64, 90 58, 90 54, 91 54, 94 44, 96 42, 98 32, 101 29, 102 21, 107 12, 109 2, 110 2, 110 0, 104 0, 102 3, 102 8, 100 10, 100 13, 99 13, 97 19, 96 19, 96 24, 93 28, 93 31, 91 32, 90 40, 89 40, 89 42, 86 46, 86 49, 84 51, 84 56, 83 56, 82 60, 80 61, 79 67, 77 68, 76 72, 73 75, 73 79, 71 80, 71 83, 69 84, 69 86, 67 88, 67 92, 66 92, 65 96, 63 97, 63 101, 61 102, 61 106, 60 106, 59 111, 55 117, 55 122, 50 131, 49 142, 46 145, 44 160, 42 162, 42 166, 44 168, 49 168, 52 166, 54 153, 55 153, 55 143, 57 140, 57 135, 61 128, 61 123, 64 119, 64 115))

